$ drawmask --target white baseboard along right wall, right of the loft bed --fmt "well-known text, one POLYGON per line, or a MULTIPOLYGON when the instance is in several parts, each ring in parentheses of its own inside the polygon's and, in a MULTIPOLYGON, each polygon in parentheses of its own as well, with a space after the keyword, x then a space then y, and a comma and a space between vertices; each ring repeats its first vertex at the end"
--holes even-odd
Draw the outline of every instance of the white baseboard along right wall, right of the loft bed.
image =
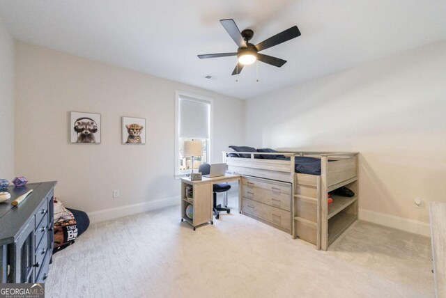
POLYGON ((423 221, 405 219, 403 217, 396 217, 394 215, 364 209, 359 210, 359 219, 363 221, 370 221, 374 224, 380 224, 382 226, 397 228, 399 230, 405 230, 406 232, 431 237, 429 224, 423 221))

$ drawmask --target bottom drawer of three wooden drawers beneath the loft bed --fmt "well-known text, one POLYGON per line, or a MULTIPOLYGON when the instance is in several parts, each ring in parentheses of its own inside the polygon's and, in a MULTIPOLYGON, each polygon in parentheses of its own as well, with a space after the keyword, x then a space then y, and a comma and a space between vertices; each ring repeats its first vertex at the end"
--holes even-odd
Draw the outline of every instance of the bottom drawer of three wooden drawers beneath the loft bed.
POLYGON ((284 228, 291 228, 290 212, 270 205, 242 198, 242 210, 284 228))

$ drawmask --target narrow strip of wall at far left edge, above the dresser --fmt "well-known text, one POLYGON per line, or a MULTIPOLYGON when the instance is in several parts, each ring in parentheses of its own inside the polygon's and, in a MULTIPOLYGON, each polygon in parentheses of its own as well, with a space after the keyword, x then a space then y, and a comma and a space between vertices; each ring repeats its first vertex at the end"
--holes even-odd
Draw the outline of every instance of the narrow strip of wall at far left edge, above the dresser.
POLYGON ((0 21, 0 179, 14 178, 14 40, 0 21))

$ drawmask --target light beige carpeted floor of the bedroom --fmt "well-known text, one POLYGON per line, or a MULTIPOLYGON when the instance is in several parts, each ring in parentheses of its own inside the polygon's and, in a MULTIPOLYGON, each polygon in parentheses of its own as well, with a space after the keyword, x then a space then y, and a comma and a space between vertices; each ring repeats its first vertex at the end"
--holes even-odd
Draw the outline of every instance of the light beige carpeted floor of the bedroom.
POLYGON ((93 224, 54 255, 46 297, 433 297, 427 237, 357 221, 316 251, 230 205, 196 231, 179 206, 93 224))

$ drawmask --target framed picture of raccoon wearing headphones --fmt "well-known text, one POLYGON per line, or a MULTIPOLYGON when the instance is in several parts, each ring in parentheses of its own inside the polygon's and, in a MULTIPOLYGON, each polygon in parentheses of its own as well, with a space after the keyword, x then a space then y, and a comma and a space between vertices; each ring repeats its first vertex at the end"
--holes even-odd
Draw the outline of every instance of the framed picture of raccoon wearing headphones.
POLYGON ((70 111, 70 143, 100 144, 101 129, 100 113, 70 111))

